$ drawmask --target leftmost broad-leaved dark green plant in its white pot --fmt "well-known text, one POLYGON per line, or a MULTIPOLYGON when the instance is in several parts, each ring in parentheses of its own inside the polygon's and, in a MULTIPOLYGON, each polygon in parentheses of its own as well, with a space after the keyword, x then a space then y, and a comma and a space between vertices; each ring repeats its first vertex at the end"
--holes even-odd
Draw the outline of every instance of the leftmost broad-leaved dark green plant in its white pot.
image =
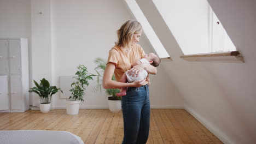
POLYGON ((42 113, 48 113, 51 107, 51 97, 56 92, 61 91, 61 89, 57 88, 56 86, 50 86, 49 81, 45 79, 40 80, 40 85, 38 85, 38 83, 34 80, 34 84, 36 85, 36 87, 30 88, 30 91, 28 92, 37 93, 39 95, 40 111, 42 113))

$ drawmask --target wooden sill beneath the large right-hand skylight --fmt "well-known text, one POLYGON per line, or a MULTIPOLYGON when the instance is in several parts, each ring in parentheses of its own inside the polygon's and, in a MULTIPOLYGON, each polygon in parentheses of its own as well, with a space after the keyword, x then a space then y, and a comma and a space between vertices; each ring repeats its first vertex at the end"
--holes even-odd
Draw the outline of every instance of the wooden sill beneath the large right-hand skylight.
POLYGON ((243 57, 238 51, 202 53, 196 55, 181 56, 185 61, 191 62, 229 62, 229 63, 244 63, 243 57))

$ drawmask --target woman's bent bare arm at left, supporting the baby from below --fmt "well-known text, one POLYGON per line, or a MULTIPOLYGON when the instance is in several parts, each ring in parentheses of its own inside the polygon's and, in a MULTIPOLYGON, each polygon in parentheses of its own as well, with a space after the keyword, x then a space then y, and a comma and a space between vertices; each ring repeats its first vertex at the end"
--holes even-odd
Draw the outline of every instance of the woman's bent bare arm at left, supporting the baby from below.
POLYGON ((123 87, 140 87, 142 86, 145 80, 139 80, 132 83, 124 83, 124 82, 117 82, 112 80, 112 76, 114 74, 115 65, 113 63, 108 63, 106 69, 104 70, 103 74, 103 88, 105 89, 112 89, 112 88, 123 88, 123 87))

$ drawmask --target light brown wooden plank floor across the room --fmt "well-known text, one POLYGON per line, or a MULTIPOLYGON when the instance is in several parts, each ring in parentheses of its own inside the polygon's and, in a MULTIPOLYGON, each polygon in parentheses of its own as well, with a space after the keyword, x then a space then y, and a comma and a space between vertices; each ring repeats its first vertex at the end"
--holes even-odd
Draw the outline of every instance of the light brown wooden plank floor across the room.
MULTIPOLYGON (((80 136, 84 143, 121 143, 123 116, 107 109, 82 109, 75 116, 66 115, 66 110, 0 113, 0 130, 64 130, 80 136)), ((183 109, 152 109, 147 143, 222 142, 183 109)))

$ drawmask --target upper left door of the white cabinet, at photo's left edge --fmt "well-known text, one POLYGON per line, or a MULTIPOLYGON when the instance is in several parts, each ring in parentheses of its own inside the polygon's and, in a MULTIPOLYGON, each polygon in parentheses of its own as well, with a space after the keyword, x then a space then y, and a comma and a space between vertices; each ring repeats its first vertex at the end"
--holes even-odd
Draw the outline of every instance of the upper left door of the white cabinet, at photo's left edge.
POLYGON ((8 75, 8 40, 0 39, 0 75, 8 75))

